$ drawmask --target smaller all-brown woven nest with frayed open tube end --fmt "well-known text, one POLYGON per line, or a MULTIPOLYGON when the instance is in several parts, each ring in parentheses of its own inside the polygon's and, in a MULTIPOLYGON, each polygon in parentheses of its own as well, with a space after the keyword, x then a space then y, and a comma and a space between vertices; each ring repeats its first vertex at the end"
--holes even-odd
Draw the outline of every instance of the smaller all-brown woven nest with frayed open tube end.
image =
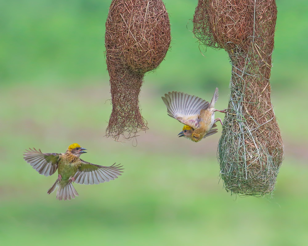
POLYGON ((112 113, 106 136, 127 138, 147 124, 139 111, 144 73, 156 69, 171 41, 168 13, 161 0, 113 0, 106 22, 105 46, 112 113))

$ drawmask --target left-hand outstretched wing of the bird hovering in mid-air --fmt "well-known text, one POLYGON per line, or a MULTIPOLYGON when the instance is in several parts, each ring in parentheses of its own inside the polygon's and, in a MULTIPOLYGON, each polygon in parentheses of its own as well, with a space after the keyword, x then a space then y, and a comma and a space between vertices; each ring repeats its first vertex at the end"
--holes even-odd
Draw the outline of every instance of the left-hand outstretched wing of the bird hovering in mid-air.
POLYGON ((39 149, 27 150, 24 155, 24 159, 28 162, 39 174, 49 176, 55 173, 58 168, 58 161, 60 154, 57 153, 42 153, 39 149))

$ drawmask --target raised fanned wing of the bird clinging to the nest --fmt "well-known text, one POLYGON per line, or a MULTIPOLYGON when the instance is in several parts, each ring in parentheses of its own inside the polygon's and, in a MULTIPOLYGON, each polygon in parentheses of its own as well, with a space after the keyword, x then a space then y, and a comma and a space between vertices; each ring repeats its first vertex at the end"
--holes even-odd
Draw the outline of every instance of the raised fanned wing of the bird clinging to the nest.
POLYGON ((201 109, 209 108, 208 101, 183 92, 172 91, 161 98, 167 106, 167 113, 170 117, 192 128, 199 123, 198 116, 201 109))

